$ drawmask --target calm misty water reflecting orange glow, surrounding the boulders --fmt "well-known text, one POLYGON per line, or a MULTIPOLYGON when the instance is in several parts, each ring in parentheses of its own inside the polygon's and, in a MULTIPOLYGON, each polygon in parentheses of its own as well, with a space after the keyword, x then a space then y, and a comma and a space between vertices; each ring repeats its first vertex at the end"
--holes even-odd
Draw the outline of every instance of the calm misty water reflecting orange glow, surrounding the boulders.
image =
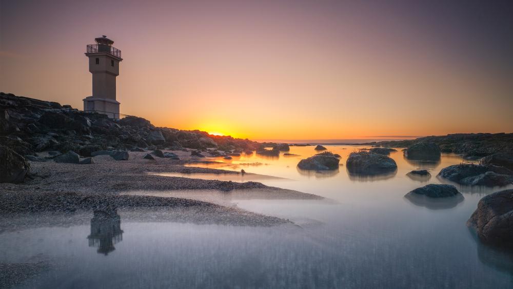
MULTIPOLYGON (((333 200, 222 200, 290 219, 302 228, 168 222, 151 211, 118 210, 119 219, 109 221, 92 212, 40 216, 40 224, 22 227, 23 219, 14 220, 18 225, 0 233, 0 262, 52 264, 23 288, 513 288, 513 258, 481 245, 465 225, 479 199, 508 187, 458 186, 464 196, 459 202, 412 203, 404 198, 408 191, 441 183, 436 178, 440 169, 461 158, 409 162, 399 149, 390 155, 398 164, 393 174, 354 176, 345 161, 355 148, 328 146, 343 164, 329 173, 298 170, 299 160, 315 151, 291 147, 290 153, 300 156, 251 155, 204 165, 280 178, 179 175, 259 181, 333 200), (432 177, 406 176, 417 168, 430 170, 432 177), (96 236, 97 227, 110 228, 110 235, 96 236)), ((130 193, 194 197, 190 192, 130 193)))

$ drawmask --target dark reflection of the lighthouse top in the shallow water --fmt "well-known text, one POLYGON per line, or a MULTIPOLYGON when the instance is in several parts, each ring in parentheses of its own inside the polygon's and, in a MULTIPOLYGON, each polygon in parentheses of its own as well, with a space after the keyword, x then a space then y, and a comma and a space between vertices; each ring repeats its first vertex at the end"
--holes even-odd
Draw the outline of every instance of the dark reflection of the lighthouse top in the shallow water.
POLYGON ((89 247, 97 247, 99 254, 108 255, 116 248, 114 244, 123 241, 121 217, 116 209, 94 210, 91 219, 91 234, 87 236, 89 247))

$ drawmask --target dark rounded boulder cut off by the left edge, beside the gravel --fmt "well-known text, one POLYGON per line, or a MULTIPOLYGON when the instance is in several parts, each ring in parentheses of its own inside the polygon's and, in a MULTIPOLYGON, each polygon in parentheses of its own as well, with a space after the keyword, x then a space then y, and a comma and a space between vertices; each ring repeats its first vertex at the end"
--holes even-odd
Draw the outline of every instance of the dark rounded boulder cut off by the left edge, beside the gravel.
POLYGON ((29 174, 29 163, 14 150, 0 145, 0 183, 21 183, 29 174))

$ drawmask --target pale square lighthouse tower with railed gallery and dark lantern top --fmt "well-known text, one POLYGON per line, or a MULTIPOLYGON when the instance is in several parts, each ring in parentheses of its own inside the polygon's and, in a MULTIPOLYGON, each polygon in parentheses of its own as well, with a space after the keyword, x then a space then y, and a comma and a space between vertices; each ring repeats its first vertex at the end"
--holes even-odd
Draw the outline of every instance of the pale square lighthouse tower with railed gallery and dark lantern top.
POLYGON ((103 35, 94 38, 96 44, 87 45, 89 72, 93 74, 93 95, 84 99, 84 111, 120 118, 120 103, 116 101, 116 76, 120 75, 121 50, 103 35))

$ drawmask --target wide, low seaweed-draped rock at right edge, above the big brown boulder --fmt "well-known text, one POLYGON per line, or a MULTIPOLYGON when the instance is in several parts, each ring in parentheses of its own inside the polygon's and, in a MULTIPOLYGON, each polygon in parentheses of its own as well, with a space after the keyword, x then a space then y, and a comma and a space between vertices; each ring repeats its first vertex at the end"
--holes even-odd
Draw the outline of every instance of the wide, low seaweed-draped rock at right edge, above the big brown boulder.
POLYGON ((513 171, 494 165, 452 165, 443 168, 438 176, 467 186, 493 187, 513 183, 513 171))

